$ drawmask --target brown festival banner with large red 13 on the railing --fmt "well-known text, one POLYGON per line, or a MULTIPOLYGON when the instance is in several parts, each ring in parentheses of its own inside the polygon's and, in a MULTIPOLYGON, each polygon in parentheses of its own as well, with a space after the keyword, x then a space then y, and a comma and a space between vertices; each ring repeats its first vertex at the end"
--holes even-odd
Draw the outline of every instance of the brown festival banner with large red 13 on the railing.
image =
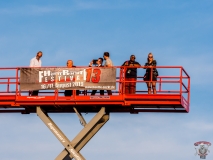
POLYGON ((21 90, 115 90, 116 69, 88 68, 21 68, 21 90))

